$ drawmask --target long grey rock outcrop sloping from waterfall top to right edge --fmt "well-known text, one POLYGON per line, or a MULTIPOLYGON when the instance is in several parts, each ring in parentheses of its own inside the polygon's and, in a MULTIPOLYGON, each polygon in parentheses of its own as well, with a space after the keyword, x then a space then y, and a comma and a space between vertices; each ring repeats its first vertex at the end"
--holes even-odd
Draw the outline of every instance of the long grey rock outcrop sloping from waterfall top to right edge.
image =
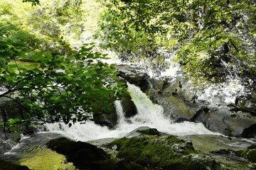
POLYGON ((153 103, 164 108, 164 115, 174 122, 193 121, 203 123, 213 132, 235 137, 256 136, 255 95, 252 93, 250 102, 240 101, 235 109, 232 106, 213 108, 208 102, 197 101, 198 89, 191 89, 191 84, 181 76, 164 79, 151 79, 138 67, 118 65, 120 76, 131 84, 139 86, 153 103), (245 104, 247 103, 247 104, 245 104), (246 107, 245 107, 246 106, 246 107))

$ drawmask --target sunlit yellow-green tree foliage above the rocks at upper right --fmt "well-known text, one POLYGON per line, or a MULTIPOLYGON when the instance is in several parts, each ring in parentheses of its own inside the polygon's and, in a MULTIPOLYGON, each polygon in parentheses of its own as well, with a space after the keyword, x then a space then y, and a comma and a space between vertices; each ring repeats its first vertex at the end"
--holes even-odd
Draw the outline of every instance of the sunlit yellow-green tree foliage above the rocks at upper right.
MULTIPOLYGON (((105 1, 97 38, 119 55, 176 53, 195 81, 255 78, 255 1, 105 1)), ((152 55, 153 54, 153 55, 152 55)))

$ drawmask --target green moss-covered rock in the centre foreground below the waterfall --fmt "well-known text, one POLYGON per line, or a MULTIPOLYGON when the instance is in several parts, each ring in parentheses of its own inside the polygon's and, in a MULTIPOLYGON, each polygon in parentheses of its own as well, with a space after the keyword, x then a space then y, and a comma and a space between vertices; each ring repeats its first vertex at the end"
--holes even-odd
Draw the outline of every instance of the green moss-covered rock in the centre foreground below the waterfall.
POLYGON ((148 169, 218 169, 220 166, 211 157, 199 154, 191 142, 175 136, 122 138, 107 147, 117 148, 117 158, 127 159, 148 169))

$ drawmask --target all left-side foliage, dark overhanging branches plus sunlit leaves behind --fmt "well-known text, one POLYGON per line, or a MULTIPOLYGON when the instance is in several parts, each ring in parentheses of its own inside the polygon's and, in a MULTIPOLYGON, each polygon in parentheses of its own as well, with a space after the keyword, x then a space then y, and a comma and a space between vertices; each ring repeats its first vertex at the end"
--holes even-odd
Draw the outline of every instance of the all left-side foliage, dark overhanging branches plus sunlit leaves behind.
POLYGON ((90 113, 110 110, 125 91, 94 43, 75 45, 83 27, 80 1, 41 2, 0 2, 0 99, 22 108, 15 117, 1 103, 4 131, 38 122, 84 122, 90 113))

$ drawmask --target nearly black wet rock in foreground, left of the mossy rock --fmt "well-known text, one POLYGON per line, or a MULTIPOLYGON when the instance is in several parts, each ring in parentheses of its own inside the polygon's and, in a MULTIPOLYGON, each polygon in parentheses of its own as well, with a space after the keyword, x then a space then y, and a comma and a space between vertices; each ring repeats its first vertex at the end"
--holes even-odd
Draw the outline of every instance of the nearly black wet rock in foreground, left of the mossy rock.
POLYGON ((87 142, 74 142, 65 137, 50 140, 46 146, 59 154, 64 154, 68 162, 80 170, 140 170, 142 166, 129 160, 110 157, 103 149, 87 142))

